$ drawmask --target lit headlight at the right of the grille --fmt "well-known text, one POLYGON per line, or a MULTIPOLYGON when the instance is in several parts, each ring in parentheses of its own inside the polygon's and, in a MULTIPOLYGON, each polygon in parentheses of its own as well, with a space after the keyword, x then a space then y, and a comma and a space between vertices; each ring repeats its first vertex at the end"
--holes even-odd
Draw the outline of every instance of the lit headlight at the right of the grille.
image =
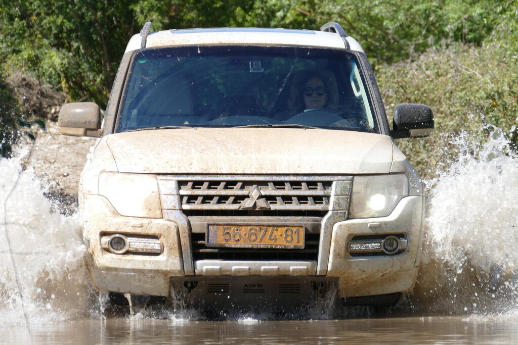
POLYGON ((408 196, 405 174, 354 176, 349 218, 385 217, 408 196))

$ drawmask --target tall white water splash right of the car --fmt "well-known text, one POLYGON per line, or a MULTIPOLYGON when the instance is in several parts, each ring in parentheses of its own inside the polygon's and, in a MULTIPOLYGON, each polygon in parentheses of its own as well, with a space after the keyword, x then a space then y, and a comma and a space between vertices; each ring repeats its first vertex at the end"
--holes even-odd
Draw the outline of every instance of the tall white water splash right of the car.
POLYGON ((458 161, 433 181, 414 306, 449 314, 516 309, 518 155, 492 128, 481 145, 466 134, 458 161))

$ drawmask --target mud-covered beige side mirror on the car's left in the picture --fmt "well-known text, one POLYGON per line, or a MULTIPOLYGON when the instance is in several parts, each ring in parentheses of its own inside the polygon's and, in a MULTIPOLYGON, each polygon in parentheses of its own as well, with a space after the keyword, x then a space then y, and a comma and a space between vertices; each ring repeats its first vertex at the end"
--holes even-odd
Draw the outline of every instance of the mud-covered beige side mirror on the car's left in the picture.
POLYGON ((59 132, 65 136, 100 137, 99 106, 92 102, 64 104, 57 119, 59 132))

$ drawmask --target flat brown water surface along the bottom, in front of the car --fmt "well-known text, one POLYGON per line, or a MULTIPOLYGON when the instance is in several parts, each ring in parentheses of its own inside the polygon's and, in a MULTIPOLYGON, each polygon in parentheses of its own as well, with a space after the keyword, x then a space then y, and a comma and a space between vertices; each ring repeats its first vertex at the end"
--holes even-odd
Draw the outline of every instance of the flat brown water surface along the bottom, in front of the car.
POLYGON ((413 317, 327 321, 87 319, 15 328, 5 343, 45 344, 502 344, 518 342, 518 318, 413 317))

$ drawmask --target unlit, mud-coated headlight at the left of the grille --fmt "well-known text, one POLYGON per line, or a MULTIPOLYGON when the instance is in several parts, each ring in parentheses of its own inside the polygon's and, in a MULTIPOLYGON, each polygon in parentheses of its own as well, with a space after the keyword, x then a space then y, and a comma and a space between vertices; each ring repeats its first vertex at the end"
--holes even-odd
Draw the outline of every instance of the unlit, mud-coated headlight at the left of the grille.
POLYGON ((155 175, 102 172, 99 194, 105 196, 122 216, 162 218, 155 175))

